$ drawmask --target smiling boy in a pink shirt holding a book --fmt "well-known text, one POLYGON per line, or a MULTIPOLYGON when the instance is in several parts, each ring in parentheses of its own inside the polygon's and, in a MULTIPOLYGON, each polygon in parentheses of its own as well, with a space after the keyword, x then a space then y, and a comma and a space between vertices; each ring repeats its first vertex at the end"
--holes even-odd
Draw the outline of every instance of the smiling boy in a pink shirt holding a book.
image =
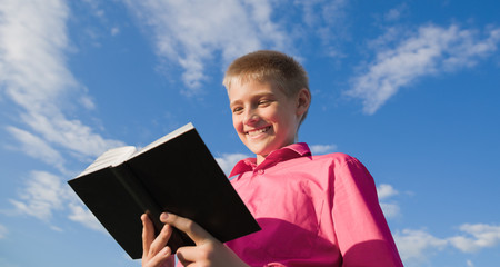
POLYGON ((230 176, 262 230, 219 243, 196 222, 163 214, 154 238, 142 216, 143 266, 173 266, 164 247, 171 227, 194 247, 177 251, 184 266, 402 266, 364 166, 343 154, 311 156, 296 142, 311 95, 292 58, 257 51, 231 63, 223 85, 241 141, 256 154, 230 176))

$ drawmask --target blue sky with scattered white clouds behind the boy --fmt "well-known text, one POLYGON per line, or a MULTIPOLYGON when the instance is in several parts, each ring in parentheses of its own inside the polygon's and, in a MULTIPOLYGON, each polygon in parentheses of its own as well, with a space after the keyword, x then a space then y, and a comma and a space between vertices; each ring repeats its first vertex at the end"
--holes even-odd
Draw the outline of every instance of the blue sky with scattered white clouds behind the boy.
POLYGON ((140 266, 66 181, 193 122, 251 154, 223 71, 277 49, 310 76, 300 130, 373 175, 406 266, 500 261, 498 1, 0 0, 0 266, 140 266))

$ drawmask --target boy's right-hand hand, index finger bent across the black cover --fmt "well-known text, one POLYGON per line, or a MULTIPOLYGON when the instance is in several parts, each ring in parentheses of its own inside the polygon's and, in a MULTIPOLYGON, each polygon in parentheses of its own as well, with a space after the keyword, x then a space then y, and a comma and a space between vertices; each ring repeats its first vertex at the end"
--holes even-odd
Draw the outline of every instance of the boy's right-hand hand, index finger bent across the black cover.
MULTIPOLYGON (((194 221, 172 214, 162 214, 160 220, 166 226, 176 227, 186 233, 194 241, 196 246, 181 247, 177 250, 177 257, 183 266, 248 267, 230 248, 217 240, 194 221)), ((166 231, 169 231, 166 234, 170 235, 171 228, 167 228, 166 231)), ((164 235, 164 237, 169 235, 164 235)), ((163 244, 163 241, 159 243, 163 244)))

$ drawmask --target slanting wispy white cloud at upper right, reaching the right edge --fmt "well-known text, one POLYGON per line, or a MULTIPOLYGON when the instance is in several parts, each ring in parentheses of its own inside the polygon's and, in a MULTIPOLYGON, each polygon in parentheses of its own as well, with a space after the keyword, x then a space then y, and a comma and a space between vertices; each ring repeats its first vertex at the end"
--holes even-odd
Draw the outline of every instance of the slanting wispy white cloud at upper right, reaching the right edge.
POLYGON ((360 98, 363 111, 372 115, 402 87, 426 76, 472 67, 494 52, 499 41, 500 29, 489 30, 481 39, 477 31, 454 24, 420 27, 394 48, 382 46, 366 72, 352 79, 352 88, 346 93, 360 98))

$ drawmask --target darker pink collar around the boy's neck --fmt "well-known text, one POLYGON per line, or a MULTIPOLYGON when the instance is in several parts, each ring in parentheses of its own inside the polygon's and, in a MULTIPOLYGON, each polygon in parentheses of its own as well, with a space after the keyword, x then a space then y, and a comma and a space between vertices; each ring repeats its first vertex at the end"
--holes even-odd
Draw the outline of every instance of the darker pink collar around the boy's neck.
POLYGON ((306 142, 296 142, 289 145, 287 147, 277 149, 266 157, 264 161, 260 165, 257 165, 257 158, 246 158, 240 161, 232 168, 229 177, 233 177, 236 175, 243 174, 246 171, 256 171, 257 169, 264 169, 267 167, 277 165, 280 161, 286 161, 293 158, 311 156, 311 150, 306 142))

